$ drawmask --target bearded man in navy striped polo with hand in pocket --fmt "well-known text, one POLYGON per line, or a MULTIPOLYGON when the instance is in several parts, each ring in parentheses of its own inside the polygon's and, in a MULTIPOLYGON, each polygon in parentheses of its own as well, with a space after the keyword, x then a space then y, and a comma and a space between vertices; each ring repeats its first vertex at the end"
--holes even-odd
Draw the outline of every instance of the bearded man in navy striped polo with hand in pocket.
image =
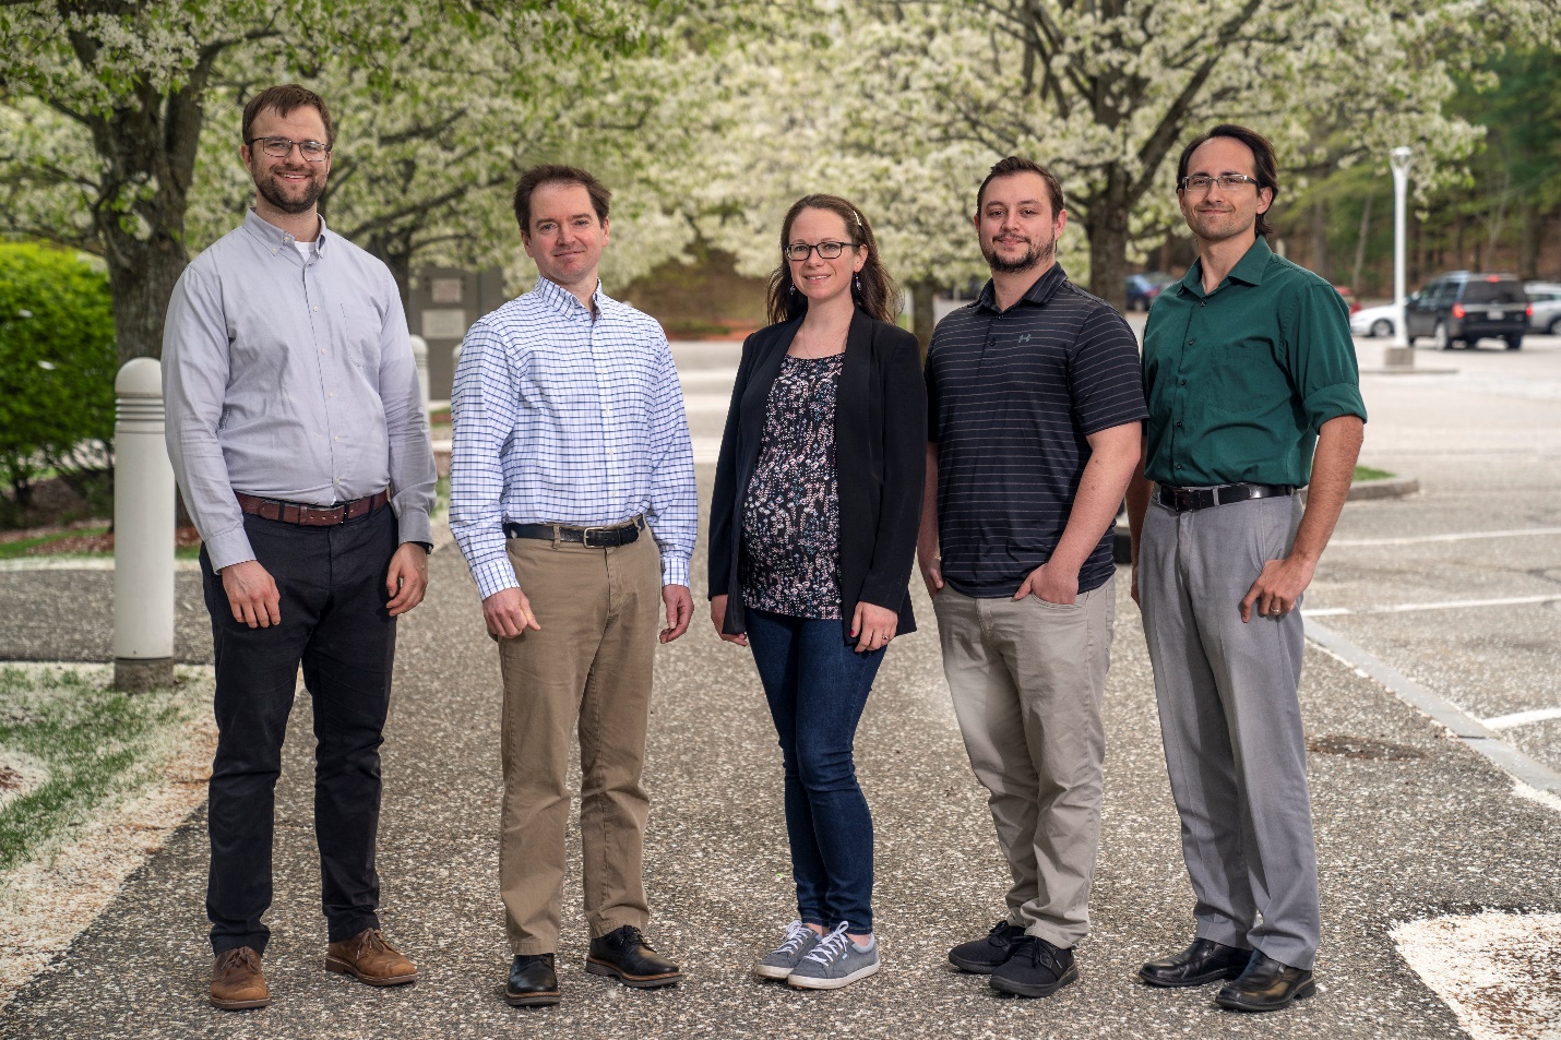
POLYGON ((1090 931, 1111 522, 1147 411, 1132 329, 1057 265, 1057 178, 1004 159, 974 222, 991 281, 927 351, 918 556, 1013 885, 1005 917, 949 960, 996 990, 1049 996, 1079 978, 1072 948, 1090 931))

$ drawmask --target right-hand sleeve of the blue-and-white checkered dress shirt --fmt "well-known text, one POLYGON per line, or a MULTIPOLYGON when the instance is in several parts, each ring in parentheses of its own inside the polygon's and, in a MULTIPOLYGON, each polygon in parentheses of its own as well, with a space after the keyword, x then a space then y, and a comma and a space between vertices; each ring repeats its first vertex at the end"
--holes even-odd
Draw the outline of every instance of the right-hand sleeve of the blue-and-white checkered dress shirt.
POLYGON ((646 522, 662 553, 662 584, 687 586, 688 561, 699 531, 699 492, 693 442, 682 406, 682 384, 671 345, 656 331, 657 375, 651 401, 651 509, 646 522))

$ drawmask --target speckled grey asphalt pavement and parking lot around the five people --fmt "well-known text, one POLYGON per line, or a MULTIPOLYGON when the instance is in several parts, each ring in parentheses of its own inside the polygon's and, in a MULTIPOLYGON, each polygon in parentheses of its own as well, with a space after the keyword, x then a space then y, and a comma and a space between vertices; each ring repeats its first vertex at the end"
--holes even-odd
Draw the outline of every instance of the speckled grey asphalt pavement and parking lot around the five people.
MULTIPOLYGON (((1371 345, 1363 345, 1363 354, 1371 345)), ((735 345, 679 347, 701 492, 735 367, 735 345)), ((1438 358, 1445 362, 1447 358, 1438 358)), ((1511 715, 1558 703, 1547 604, 1378 614, 1433 598, 1513 598, 1556 589, 1561 537, 1509 536, 1380 545, 1372 539, 1556 525, 1561 481, 1561 344, 1520 356, 1456 354, 1458 376, 1371 376, 1367 464, 1427 490, 1352 504, 1341 545, 1308 606, 1328 625, 1470 711, 1511 715), (1516 359, 1519 369, 1499 365, 1516 359), (1481 365, 1475 369, 1475 365, 1481 365), (1547 367, 1549 365, 1549 367, 1547 367), (1530 395, 1458 379, 1509 379, 1530 395), (1552 373, 1552 375, 1545 375, 1552 373), (1397 379, 1396 383, 1392 379, 1397 379), (1436 383, 1441 379, 1441 383, 1436 383), (1483 387, 1483 389, 1481 389, 1483 387), (1547 540, 1549 539, 1549 540, 1547 540), (1545 556, 1549 553, 1549 556, 1545 556), (1480 700, 1485 698, 1485 700, 1480 700), (1549 698, 1549 700, 1547 700, 1549 698)), ((702 547, 699 550, 702 554, 702 547)), ((695 598, 706 597, 695 567, 695 598)), ((103 573, 0 573, 0 648, 67 657, 106 646, 103 573), (37 625, 39 603, 59 618, 37 625)), ((453 547, 431 561, 429 600, 403 622, 384 748, 379 871, 384 923, 421 968, 414 987, 375 990, 322 968, 312 845, 308 696, 293 714, 278 789, 276 903, 267 976, 275 1003, 225 1013, 206 1004, 201 910, 204 829, 197 814, 126 882, 117 903, 3 1010, 0 1037, 1452 1037, 1447 1004, 1397 953, 1403 921, 1480 909, 1561 910, 1556 810, 1514 795, 1486 759, 1352 665, 1308 646, 1302 679, 1324 898, 1319 995, 1271 1017, 1218 1010, 1210 988, 1150 990, 1136 967, 1180 948, 1191 893, 1165 778, 1136 607, 1119 586, 1107 686, 1107 776, 1094 931, 1082 981, 1041 1001, 1001 998, 952 971, 946 949, 1002 914, 1005 870, 985 798, 966 764, 938 662, 933 618, 891 646, 868 701, 857 764, 876 817, 884 971, 835 993, 760 982, 749 970, 793 915, 779 750, 748 653, 716 640, 706 615, 657 654, 648 787, 649 935, 687 981, 632 992, 587 976, 571 829, 564 1003, 501 999, 507 949, 498 899, 498 667, 475 586, 453 547)), ((1118 576, 1124 581, 1124 575, 1118 576)), ((198 592, 181 586, 181 656, 198 657, 198 592)), ((1542 723, 1550 725, 1550 723, 1542 723)), ((1522 728, 1514 739, 1527 739, 1522 728)), ((1550 743, 1555 743, 1553 732, 1550 743)), ((1530 753, 1549 754, 1545 742, 1530 753)), ((1475 965, 1481 967, 1481 965, 1475 965)))

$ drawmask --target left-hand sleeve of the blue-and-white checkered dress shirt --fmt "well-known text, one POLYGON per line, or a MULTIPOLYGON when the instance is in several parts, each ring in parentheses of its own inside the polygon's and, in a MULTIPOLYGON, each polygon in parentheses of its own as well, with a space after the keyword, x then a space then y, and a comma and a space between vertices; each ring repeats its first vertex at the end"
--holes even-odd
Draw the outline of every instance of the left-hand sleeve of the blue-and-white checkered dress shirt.
POLYGON ((504 540, 504 453, 518 395, 504 342, 485 322, 467 331, 450 398, 450 532, 478 592, 518 589, 504 540))

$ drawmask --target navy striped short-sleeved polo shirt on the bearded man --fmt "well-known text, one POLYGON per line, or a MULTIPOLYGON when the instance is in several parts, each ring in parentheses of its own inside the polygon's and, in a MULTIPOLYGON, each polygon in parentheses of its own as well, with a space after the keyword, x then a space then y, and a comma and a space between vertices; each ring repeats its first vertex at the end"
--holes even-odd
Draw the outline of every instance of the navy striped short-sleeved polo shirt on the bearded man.
MULTIPOLYGON (((938 445, 943 578, 1012 597, 1061 539, 1093 433, 1149 415, 1138 340, 1111 305, 1052 265, 1007 311, 991 283, 927 350, 927 439, 938 445)), ((1108 529, 1079 590, 1111 578, 1108 529)))

